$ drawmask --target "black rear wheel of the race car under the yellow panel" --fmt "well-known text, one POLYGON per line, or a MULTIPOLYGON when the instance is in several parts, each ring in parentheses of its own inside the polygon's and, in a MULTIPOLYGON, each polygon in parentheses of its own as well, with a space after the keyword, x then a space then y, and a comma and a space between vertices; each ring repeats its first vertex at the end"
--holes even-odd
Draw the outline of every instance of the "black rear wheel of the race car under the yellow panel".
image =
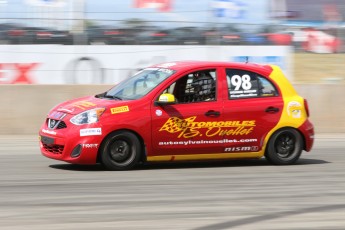
POLYGON ((302 150, 301 134, 295 129, 286 128, 276 131, 271 136, 265 157, 275 165, 290 165, 299 159, 302 150))

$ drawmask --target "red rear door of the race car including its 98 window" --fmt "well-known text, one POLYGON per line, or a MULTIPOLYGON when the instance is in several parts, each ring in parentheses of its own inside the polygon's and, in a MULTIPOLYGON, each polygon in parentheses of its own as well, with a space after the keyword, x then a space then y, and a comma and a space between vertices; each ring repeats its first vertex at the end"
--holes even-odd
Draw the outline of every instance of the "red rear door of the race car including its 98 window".
POLYGON ((267 133, 278 123, 284 102, 275 84, 258 73, 243 69, 225 69, 227 95, 224 119, 232 122, 224 132, 231 140, 224 152, 257 152, 267 133))

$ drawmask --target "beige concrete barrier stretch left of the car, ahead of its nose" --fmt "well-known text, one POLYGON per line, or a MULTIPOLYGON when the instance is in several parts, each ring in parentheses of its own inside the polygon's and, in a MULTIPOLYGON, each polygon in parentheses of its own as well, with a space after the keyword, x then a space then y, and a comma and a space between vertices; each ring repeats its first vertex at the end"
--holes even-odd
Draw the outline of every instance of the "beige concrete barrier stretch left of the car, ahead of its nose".
POLYGON ((76 97, 106 91, 109 85, 0 85, 0 135, 36 134, 49 110, 76 97))

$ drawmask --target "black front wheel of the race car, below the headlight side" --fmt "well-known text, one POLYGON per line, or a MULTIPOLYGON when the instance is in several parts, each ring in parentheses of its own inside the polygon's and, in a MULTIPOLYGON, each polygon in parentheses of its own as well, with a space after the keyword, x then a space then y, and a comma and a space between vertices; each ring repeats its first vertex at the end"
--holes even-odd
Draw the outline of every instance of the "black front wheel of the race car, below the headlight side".
POLYGON ((129 170, 140 160, 141 143, 128 131, 110 134, 101 146, 101 163, 108 170, 129 170))

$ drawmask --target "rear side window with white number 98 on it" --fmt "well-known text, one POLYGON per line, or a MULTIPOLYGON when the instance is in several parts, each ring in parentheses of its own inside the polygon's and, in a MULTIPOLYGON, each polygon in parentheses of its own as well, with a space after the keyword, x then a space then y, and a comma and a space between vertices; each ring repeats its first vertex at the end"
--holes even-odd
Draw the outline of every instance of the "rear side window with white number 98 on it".
POLYGON ((229 99, 278 96, 274 85, 257 73, 226 69, 229 99))

